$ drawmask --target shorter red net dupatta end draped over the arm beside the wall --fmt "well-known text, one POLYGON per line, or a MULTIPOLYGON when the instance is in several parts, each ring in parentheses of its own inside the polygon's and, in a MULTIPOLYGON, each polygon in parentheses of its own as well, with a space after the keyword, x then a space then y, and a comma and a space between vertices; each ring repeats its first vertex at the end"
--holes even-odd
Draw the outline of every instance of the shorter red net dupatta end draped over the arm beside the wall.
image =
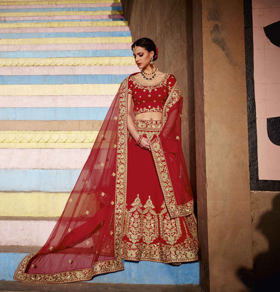
POLYGON ((151 140, 151 152, 171 218, 193 213, 193 195, 182 151, 183 98, 177 81, 163 107, 163 130, 151 140))

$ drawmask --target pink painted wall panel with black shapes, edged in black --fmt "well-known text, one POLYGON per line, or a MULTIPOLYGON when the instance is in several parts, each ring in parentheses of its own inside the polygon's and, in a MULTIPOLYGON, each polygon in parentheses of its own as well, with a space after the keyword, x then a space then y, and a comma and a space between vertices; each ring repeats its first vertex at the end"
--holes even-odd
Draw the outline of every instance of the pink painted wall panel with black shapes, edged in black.
POLYGON ((260 180, 280 180, 280 146, 267 134, 267 118, 280 116, 280 49, 264 26, 280 19, 279 1, 252 1, 257 149, 260 180))

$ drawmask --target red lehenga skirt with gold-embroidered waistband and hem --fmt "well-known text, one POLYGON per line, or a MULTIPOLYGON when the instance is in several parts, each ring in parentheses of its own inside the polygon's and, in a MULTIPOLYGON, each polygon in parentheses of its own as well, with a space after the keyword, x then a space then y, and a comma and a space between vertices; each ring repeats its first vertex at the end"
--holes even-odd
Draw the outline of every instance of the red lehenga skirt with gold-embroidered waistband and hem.
MULTIPOLYGON (((139 134, 151 140, 162 121, 134 120, 139 134)), ((121 256, 124 260, 189 262, 197 257, 197 222, 192 213, 171 219, 150 151, 128 140, 126 214, 121 256)))

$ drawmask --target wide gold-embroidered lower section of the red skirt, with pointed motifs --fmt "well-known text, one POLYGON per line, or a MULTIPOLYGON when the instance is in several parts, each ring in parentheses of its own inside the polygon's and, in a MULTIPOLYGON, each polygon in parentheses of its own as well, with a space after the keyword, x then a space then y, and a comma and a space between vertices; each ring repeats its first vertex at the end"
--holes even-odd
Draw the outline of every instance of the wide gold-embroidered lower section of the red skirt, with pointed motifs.
POLYGON ((154 211, 155 206, 148 196, 142 207, 139 194, 126 209, 124 237, 121 253, 125 260, 149 260, 154 262, 172 263, 176 261, 197 260, 197 233, 192 215, 171 219, 165 203, 161 212, 154 211), (142 211, 144 209, 144 211, 142 211), (185 226, 182 233, 181 223, 185 226), (188 230, 192 237, 189 237, 188 230))

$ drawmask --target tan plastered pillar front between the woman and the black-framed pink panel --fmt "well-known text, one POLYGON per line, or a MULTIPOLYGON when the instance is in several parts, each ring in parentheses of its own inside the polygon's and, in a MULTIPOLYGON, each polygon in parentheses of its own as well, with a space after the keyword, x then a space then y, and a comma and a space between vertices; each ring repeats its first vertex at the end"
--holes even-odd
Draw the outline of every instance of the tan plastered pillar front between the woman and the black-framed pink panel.
POLYGON ((243 1, 193 1, 202 291, 246 291, 252 268, 243 1))

